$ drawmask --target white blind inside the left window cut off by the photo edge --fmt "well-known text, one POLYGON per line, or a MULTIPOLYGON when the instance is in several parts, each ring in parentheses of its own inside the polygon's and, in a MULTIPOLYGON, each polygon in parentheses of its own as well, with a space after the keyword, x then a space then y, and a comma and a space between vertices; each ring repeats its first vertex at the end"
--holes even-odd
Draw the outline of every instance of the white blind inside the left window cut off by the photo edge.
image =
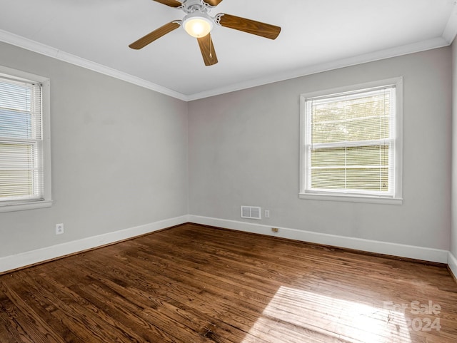
POLYGON ((0 77, 0 202, 43 199, 41 84, 0 77))

